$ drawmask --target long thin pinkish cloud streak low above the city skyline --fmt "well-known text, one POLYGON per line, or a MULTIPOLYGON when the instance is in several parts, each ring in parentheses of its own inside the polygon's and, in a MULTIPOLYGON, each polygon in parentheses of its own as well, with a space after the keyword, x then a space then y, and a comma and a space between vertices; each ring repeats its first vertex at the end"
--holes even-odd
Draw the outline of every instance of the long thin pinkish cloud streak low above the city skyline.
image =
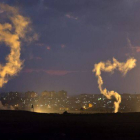
POLYGON ((44 72, 49 75, 56 75, 56 76, 64 76, 69 73, 76 73, 78 71, 67 71, 67 70, 45 70, 45 69, 24 69, 24 73, 32 73, 32 72, 44 72))

